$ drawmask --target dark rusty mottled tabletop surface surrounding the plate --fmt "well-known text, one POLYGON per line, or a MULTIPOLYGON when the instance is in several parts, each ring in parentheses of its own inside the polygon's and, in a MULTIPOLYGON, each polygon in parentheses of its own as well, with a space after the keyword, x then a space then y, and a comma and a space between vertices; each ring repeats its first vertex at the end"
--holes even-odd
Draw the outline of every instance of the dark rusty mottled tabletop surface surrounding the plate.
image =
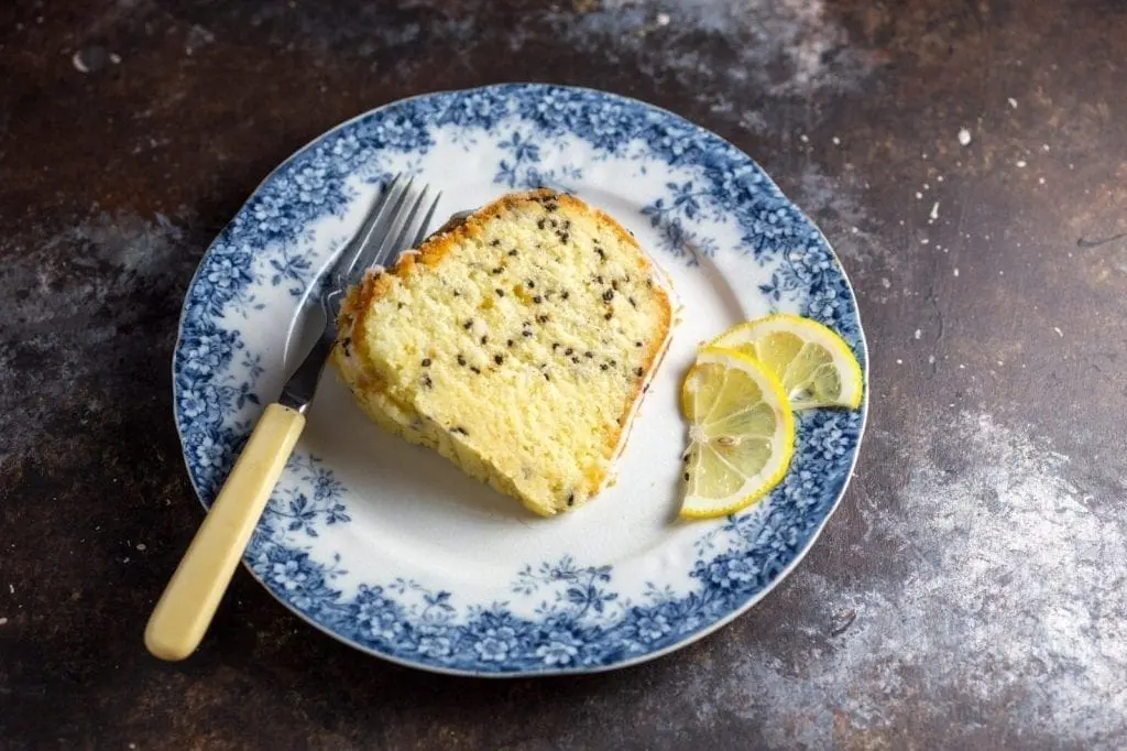
POLYGON ((384 6, 0 8, 0 748, 1127 745, 1127 6, 384 6), (513 79, 685 115, 825 230, 872 362, 841 510, 751 613, 616 673, 400 669, 245 572, 152 660, 204 248, 336 123, 513 79))

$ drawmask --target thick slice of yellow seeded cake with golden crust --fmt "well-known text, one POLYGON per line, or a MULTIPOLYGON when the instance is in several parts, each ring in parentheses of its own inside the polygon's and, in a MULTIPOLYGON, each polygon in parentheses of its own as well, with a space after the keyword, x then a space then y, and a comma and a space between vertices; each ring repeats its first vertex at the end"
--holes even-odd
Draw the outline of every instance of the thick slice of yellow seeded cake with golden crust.
POLYGON ((380 425, 548 516, 606 485, 671 315, 629 232, 541 189, 369 273, 332 360, 380 425))

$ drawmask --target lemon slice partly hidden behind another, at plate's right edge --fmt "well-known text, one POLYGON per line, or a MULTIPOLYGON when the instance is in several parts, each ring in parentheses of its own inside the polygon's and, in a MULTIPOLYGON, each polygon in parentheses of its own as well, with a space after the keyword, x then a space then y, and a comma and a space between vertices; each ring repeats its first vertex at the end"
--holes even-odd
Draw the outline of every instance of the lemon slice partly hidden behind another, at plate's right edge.
POLYGON ((782 381, 793 409, 861 404, 864 377, 845 339, 822 324, 780 313, 729 328, 710 346, 755 357, 782 381))

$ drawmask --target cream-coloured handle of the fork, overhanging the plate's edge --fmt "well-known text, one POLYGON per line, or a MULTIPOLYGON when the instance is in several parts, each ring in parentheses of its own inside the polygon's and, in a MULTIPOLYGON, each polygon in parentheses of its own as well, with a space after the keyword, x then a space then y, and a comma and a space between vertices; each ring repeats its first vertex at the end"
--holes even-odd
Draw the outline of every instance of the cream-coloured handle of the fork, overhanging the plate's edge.
POLYGON ((157 657, 184 660, 199 645, 304 426, 296 409, 266 407, 149 618, 157 657))

